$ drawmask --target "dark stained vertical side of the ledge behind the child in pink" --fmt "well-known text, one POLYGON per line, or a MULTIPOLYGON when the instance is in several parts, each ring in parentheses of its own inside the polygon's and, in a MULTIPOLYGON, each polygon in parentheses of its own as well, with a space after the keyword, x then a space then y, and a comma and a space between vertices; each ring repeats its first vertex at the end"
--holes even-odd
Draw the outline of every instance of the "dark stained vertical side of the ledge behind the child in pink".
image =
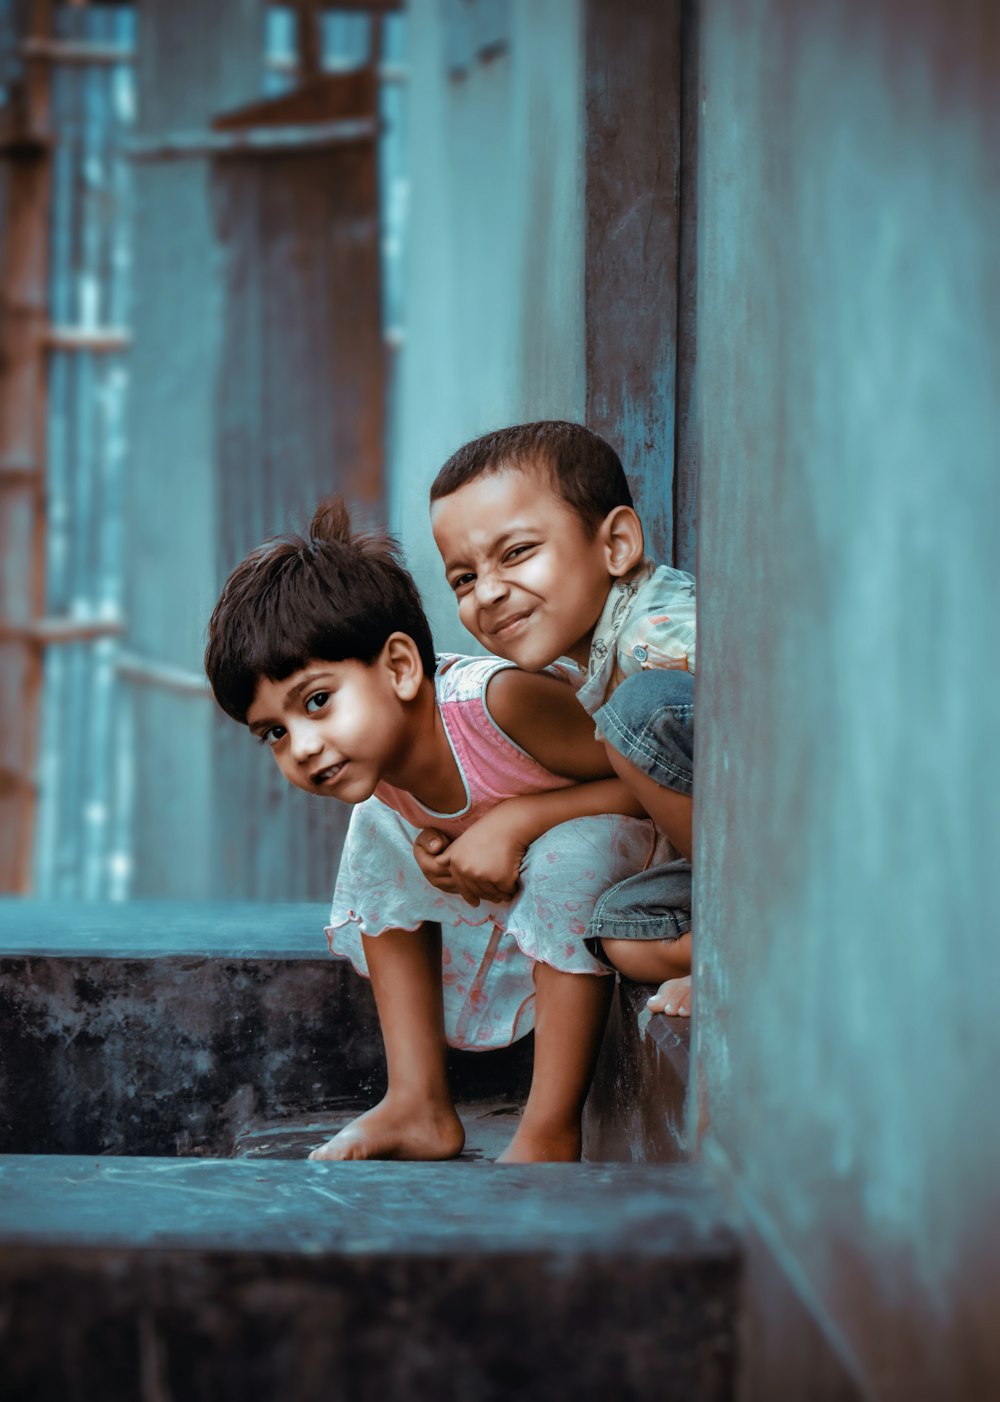
POLYGON ((220 1154, 250 1116, 380 1094, 353 979, 332 960, 0 958, 0 1144, 220 1154))

